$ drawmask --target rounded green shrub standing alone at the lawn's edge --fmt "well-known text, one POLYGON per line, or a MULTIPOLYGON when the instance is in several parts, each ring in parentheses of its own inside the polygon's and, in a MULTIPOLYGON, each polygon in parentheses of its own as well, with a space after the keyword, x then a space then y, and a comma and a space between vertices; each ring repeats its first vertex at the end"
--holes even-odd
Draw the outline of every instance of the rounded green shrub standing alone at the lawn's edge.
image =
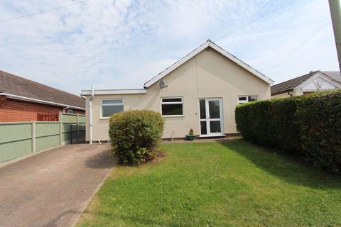
POLYGON ((110 118, 112 152, 124 165, 153 159, 163 134, 164 121, 154 111, 124 111, 110 118))

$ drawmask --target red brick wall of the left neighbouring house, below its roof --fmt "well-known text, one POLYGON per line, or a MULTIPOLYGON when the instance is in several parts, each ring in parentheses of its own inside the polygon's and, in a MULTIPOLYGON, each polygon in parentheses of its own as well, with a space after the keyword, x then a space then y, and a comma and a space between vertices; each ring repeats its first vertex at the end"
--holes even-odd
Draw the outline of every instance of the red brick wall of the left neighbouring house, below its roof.
POLYGON ((38 113, 58 113, 62 107, 37 104, 0 96, 0 122, 37 121, 38 113))

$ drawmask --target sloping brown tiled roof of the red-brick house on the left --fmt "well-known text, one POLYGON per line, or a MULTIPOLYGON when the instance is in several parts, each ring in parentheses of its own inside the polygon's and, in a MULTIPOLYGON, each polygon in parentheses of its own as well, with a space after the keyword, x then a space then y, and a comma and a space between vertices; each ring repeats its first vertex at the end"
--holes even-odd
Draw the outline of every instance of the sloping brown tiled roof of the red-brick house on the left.
POLYGON ((52 101, 58 104, 85 108, 85 99, 75 94, 34 82, 0 70, 0 93, 24 96, 31 99, 52 101))

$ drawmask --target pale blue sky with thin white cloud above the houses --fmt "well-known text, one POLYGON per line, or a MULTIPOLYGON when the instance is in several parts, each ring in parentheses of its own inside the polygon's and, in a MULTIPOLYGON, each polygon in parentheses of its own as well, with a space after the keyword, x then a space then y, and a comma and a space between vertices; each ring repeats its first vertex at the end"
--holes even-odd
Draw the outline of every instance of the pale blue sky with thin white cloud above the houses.
MULTIPOLYGON (((0 21, 77 1, 0 0, 0 21)), ((325 0, 90 0, 0 31, 0 70, 74 94, 141 88, 208 38, 276 82, 338 65, 325 0)))

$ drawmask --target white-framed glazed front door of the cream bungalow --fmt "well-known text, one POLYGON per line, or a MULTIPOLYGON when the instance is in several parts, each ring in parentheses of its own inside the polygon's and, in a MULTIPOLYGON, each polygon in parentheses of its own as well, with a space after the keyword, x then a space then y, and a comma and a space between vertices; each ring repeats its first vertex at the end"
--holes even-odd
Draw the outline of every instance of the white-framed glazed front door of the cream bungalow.
POLYGON ((223 135, 222 99, 199 99, 200 135, 223 135))

